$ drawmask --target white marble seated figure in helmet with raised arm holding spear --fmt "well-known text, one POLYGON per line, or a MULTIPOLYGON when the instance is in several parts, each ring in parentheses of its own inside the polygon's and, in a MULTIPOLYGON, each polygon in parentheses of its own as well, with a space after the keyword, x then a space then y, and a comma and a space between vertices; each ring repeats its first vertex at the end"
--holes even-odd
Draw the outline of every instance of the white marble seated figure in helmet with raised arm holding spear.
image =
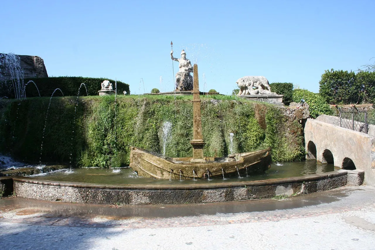
POLYGON ((190 72, 193 72, 193 66, 189 59, 186 58, 184 50, 181 51, 181 58, 173 57, 173 50, 171 51, 171 58, 174 61, 178 61, 178 72, 176 73, 175 88, 178 91, 189 91, 193 90, 193 77, 190 72))

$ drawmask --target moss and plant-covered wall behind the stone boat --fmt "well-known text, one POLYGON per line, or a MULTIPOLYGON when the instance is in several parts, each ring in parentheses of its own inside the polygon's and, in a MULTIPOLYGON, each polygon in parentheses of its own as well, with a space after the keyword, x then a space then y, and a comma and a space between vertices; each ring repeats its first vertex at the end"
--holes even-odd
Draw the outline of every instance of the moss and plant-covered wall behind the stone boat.
MULTIPOLYGON (((210 97, 212 98, 212 97, 210 97)), ((201 97, 205 156, 272 148, 274 161, 304 156, 302 127, 272 105, 201 97)), ((192 97, 114 96, 0 101, 0 152, 31 162, 78 166, 129 164, 129 147, 163 152, 162 124, 172 123, 166 156, 192 156, 192 97), (49 111, 47 108, 49 105, 49 111), (44 129, 45 128, 45 129, 44 129), (44 131, 43 131, 44 129, 44 131), (41 146, 42 145, 42 146, 41 146)))

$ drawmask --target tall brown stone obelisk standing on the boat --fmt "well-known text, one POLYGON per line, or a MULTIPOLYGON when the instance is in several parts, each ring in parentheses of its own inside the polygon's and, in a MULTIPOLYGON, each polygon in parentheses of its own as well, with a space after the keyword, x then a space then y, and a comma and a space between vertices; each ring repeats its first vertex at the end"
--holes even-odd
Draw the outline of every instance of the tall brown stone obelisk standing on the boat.
POLYGON ((201 120, 201 99, 199 97, 198 65, 193 66, 193 139, 190 141, 193 147, 193 159, 191 162, 204 162, 203 136, 201 120))

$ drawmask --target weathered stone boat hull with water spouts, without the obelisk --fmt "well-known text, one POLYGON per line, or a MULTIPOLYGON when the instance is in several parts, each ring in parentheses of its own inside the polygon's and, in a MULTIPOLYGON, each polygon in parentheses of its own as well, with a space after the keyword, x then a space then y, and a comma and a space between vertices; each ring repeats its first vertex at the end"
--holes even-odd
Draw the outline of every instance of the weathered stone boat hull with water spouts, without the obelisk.
POLYGON ((270 148, 250 153, 234 154, 225 159, 206 157, 204 162, 192 158, 170 158, 151 151, 131 147, 130 168, 142 177, 157 179, 223 178, 263 173, 270 168, 270 148), (208 174, 207 174, 208 173, 208 174))

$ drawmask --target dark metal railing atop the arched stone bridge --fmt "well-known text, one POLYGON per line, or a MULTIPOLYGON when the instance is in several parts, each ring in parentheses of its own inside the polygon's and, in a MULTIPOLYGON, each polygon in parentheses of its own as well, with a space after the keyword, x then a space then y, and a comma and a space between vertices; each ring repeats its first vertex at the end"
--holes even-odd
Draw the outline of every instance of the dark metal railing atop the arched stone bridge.
POLYGON ((339 121, 340 127, 346 129, 355 130, 362 133, 368 133, 367 123, 367 112, 359 111, 356 107, 352 107, 351 110, 342 110, 341 107, 337 107, 339 110, 339 121))

